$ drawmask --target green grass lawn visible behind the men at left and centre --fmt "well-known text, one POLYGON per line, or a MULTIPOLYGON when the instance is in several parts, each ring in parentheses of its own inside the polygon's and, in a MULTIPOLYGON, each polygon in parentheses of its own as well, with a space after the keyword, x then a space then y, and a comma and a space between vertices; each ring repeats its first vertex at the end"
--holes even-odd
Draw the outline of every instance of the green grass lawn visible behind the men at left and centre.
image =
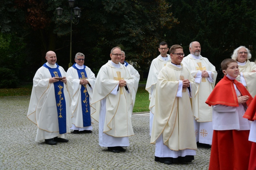
MULTIPOLYGON (((0 97, 4 96, 29 96, 32 91, 32 84, 20 85, 18 88, 1 88, 0 97)), ((138 87, 136 94, 136 101, 133 108, 133 113, 137 112, 149 112, 148 106, 150 101, 148 100, 148 92, 145 87, 138 87)))

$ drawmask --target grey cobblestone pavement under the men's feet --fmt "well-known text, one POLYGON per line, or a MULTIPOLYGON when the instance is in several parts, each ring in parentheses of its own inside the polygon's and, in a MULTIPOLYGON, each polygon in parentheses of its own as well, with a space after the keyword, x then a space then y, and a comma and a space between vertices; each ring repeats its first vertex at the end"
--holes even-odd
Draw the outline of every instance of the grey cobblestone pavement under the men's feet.
POLYGON ((122 153, 99 146, 98 123, 91 134, 68 134, 68 143, 35 142, 36 125, 26 118, 29 100, 30 96, 0 97, 0 169, 208 169, 208 148, 198 148, 192 163, 155 162, 149 114, 133 114, 134 136, 122 153))

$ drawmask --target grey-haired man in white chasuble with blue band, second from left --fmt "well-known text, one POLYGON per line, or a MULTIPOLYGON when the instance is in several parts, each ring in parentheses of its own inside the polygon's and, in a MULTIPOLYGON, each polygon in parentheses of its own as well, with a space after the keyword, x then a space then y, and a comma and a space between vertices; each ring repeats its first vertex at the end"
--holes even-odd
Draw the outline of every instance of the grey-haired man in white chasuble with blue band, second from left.
POLYGON ((67 74, 73 79, 72 95, 72 130, 73 133, 91 133, 93 130, 91 119, 91 96, 95 84, 95 74, 84 65, 85 56, 83 53, 76 53, 75 64, 70 67, 67 74))

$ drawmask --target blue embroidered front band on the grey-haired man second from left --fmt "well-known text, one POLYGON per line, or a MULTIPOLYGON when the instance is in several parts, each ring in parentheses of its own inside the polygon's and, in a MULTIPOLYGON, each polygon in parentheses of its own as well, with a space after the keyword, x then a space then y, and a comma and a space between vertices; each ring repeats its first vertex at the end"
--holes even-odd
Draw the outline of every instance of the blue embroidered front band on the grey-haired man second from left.
MULTIPOLYGON (((87 79, 87 74, 84 69, 78 69, 75 64, 72 66, 77 70, 77 74, 79 80, 87 79)), ((82 103, 82 115, 83 115, 83 127, 87 127, 91 125, 91 112, 90 112, 90 104, 89 104, 89 94, 87 92, 86 85, 81 85, 81 103, 82 103)))

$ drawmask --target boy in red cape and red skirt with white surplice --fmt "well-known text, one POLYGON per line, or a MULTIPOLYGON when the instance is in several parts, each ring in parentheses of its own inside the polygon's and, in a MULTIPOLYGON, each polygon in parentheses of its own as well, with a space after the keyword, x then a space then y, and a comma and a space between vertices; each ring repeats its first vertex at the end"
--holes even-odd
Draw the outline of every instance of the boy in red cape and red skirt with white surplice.
POLYGON ((209 170, 248 169, 252 142, 251 122, 243 115, 252 96, 239 83, 238 64, 231 58, 221 63, 224 77, 206 100, 213 107, 213 138, 209 170))

